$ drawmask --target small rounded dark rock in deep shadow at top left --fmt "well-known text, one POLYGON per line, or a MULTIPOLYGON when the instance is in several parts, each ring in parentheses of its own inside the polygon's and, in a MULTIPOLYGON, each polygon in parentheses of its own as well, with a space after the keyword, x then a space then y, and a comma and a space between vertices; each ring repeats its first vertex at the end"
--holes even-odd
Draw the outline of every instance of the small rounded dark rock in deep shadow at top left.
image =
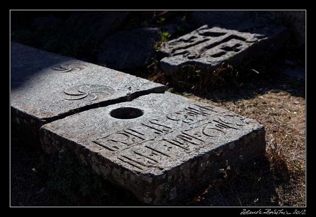
POLYGON ((62 19, 54 16, 37 17, 32 20, 31 28, 34 30, 53 30, 62 24, 62 19))

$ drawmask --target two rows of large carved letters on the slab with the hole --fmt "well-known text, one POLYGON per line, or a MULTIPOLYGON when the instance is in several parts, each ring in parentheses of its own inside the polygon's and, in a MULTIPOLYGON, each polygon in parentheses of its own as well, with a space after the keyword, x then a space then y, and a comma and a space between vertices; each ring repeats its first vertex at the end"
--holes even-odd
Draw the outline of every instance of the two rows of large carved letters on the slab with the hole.
POLYGON ((247 121, 237 114, 220 112, 213 106, 192 104, 159 120, 142 122, 92 142, 105 152, 115 154, 122 163, 144 170, 158 168, 168 158, 213 145, 218 138, 246 126, 247 121), (175 125, 181 125, 184 130, 172 134, 175 125))

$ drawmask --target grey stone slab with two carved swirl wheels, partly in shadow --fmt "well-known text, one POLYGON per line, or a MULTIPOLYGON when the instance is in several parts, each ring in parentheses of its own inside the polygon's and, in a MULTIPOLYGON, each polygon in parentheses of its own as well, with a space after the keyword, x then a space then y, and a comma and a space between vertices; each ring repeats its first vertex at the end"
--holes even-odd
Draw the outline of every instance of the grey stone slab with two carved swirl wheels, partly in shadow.
POLYGON ((163 85, 11 43, 11 130, 36 143, 43 124, 82 110, 132 100, 163 85))

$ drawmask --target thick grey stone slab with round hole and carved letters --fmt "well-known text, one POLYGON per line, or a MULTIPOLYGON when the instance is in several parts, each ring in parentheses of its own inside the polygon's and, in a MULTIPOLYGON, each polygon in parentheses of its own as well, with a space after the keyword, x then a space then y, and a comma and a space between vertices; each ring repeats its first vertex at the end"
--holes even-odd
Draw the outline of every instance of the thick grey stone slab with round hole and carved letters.
MULTIPOLYGON (((43 150, 61 149, 142 202, 167 205, 202 191, 227 164, 265 153, 255 120, 172 93, 90 109, 44 125, 43 150)), ((248 161, 249 162, 249 161, 248 161)))

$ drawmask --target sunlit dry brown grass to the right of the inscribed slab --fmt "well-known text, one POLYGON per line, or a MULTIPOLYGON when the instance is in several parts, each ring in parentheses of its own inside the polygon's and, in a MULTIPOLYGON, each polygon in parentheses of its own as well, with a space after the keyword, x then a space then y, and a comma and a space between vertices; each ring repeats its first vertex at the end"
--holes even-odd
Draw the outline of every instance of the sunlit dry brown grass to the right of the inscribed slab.
MULTIPOLYGON (((284 86, 281 82, 284 81, 274 80, 269 88, 293 88, 293 85, 284 86)), ((231 174, 227 180, 217 180, 213 187, 221 189, 233 206, 304 206, 304 89, 296 88, 291 90, 291 93, 270 89, 260 94, 256 92, 256 88, 253 90, 246 99, 236 96, 227 99, 225 96, 232 94, 219 92, 208 96, 212 100, 193 94, 189 96, 255 119, 263 124, 266 130, 266 156, 257 159, 253 165, 246 166, 238 174, 231 174)), ((238 95, 241 96, 242 91, 238 95)), ((198 203, 203 206, 212 204, 198 203)), ((193 204, 197 205, 194 202, 193 204)))

